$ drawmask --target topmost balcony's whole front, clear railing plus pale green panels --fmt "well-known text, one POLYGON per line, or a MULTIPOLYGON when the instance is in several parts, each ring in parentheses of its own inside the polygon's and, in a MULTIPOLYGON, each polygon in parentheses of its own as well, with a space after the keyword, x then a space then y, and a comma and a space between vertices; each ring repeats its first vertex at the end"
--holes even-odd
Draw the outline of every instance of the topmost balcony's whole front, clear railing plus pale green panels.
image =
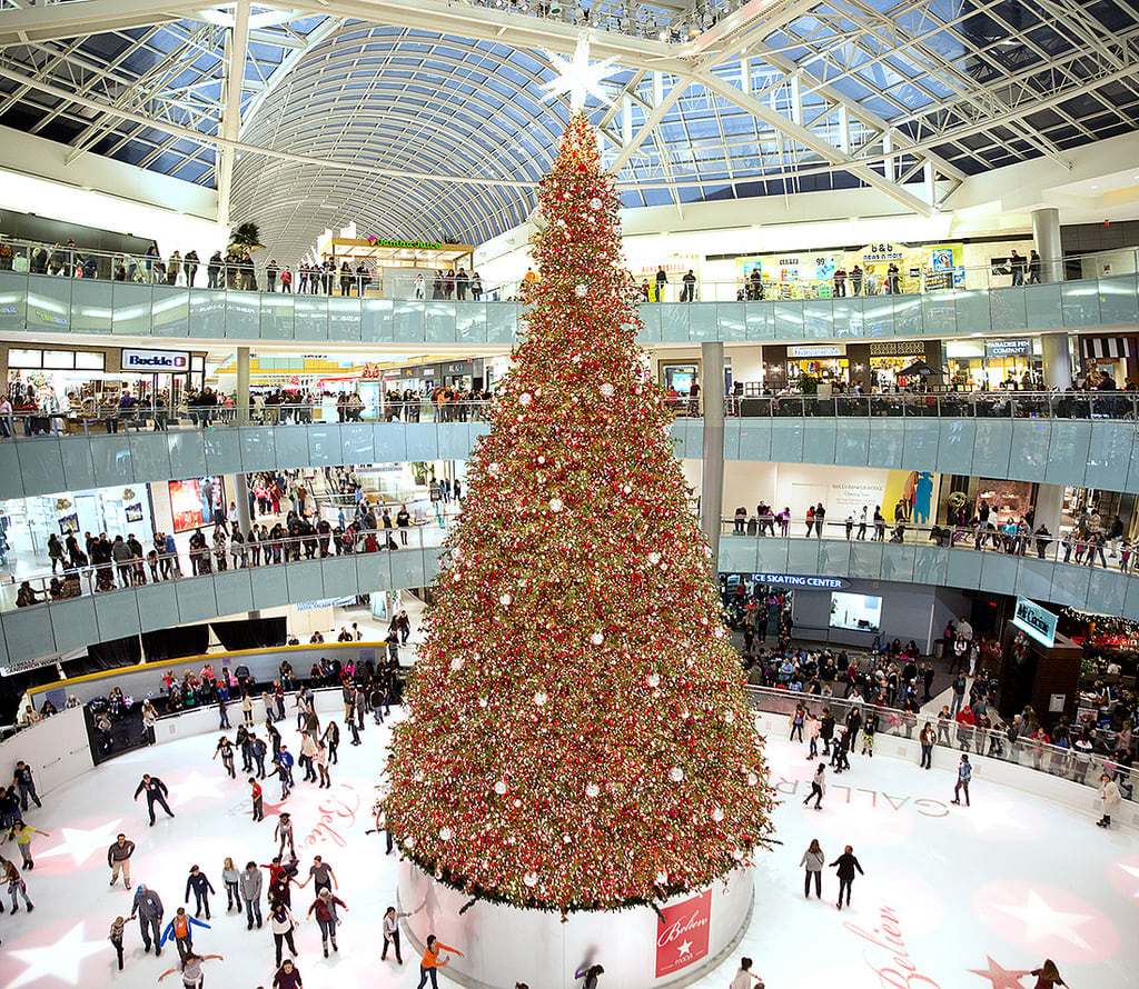
MULTIPOLYGON (((256 266, 223 265, 211 275, 207 262, 187 272, 185 258, 159 267, 155 258, 128 264, 114 255, 85 257, 77 248, 47 249, 47 261, 35 255, 33 264, 19 245, 7 249, 16 254, 0 256, 0 330, 38 335, 509 346, 524 329, 526 299, 539 290, 526 282, 451 285, 445 275, 436 287, 434 277, 419 285, 310 273, 305 291, 295 280, 282 292, 280 272, 270 280, 273 273, 256 266)), ((804 280, 762 290, 697 280, 690 291, 671 282, 646 290, 630 281, 629 291, 641 303, 644 344, 1081 329, 1139 322, 1136 254, 1065 258, 1065 272, 1081 277, 1063 280, 1055 272, 1056 280, 1040 283, 1031 271, 1022 279, 985 267, 962 270, 960 283, 919 273, 870 291, 863 282, 857 292, 853 282, 839 291, 830 281, 804 280)))

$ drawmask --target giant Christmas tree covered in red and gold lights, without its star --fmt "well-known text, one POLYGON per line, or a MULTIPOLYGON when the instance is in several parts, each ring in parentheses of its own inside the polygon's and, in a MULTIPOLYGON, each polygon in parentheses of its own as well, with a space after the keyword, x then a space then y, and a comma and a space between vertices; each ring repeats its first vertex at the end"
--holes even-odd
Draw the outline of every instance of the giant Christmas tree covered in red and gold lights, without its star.
POLYGON ((579 114, 542 181, 541 280, 468 467, 385 800, 440 880, 560 910, 707 884, 770 832, 617 206, 579 114))

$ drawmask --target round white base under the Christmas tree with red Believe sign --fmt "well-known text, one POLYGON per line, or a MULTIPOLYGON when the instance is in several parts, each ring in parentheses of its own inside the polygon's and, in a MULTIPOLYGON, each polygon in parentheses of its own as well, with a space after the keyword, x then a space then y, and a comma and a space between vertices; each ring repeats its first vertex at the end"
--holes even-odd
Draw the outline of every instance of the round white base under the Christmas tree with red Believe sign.
MULTIPOLYGON (((601 980, 621 989, 682 987, 702 979, 736 949, 752 918, 751 868, 732 870, 703 890, 661 907, 623 910, 524 909, 475 899, 435 880, 408 858, 400 860, 399 909, 405 917, 408 964, 423 957, 428 934, 464 953, 440 974, 467 989, 575 989, 576 972, 599 964, 601 980), (470 906, 461 915, 459 910, 470 906), (413 954, 415 953, 415 954, 413 954)), ((443 951, 441 956, 449 953, 443 951)))

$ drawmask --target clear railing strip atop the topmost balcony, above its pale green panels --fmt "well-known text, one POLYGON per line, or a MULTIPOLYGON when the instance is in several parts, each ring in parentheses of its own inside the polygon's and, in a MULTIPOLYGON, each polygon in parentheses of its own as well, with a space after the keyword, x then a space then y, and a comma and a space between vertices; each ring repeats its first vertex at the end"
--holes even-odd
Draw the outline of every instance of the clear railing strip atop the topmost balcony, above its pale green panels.
MULTIPOLYGON (((172 288, 195 288, 221 291, 252 291, 280 294, 284 289, 281 273, 288 269, 292 285, 288 292, 295 295, 322 295, 336 297, 376 297, 401 300, 522 300, 530 295, 531 283, 525 279, 483 281, 476 287, 470 280, 466 285, 448 281, 446 272, 439 286, 433 278, 425 278, 419 285, 415 277, 388 275, 383 289, 378 285, 382 272, 369 269, 367 274, 352 271, 347 274, 320 271, 316 278, 306 277, 302 288, 300 265, 271 265, 257 262, 251 265, 226 263, 211 265, 211 258, 199 257, 187 262, 180 257, 172 269, 172 255, 147 257, 126 252, 104 252, 85 247, 48 245, 38 241, 7 239, 0 241, 0 271, 27 272, 57 277, 83 277, 104 281, 132 282, 138 285, 163 285, 172 288), (5 250, 10 254, 5 254, 5 250), (85 271, 84 271, 85 263, 85 271), (296 269, 295 271, 293 269, 296 269), (343 281, 342 281, 343 280, 343 281)), ((343 262, 344 258, 339 258, 343 262)), ((1025 258, 1027 262, 1027 258, 1025 258)), ((1139 271, 1139 247, 1115 250, 1091 252, 1068 255, 1064 258, 1042 258, 1039 265, 1027 263, 1016 271, 1010 267, 994 270, 992 265, 960 266, 951 271, 920 269, 916 275, 910 271, 899 272, 891 282, 886 270, 888 262, 869 265, 872 279, 855 282, 847 277, 839 286, 834 279, 779 279, 767 280, 760 288, 745 278, 729 280, 702 279, 686 283, 682 273, 673 273, 667 282, 659 286, 653 274, 631 278, 630 291, 644 303, 690 303, 690 302, 786 302, 786 300, 843 300, 850 298, 890 298, 891 296, 953 294, 966 290, 1001 289, 1019 285, 1032 286, 1043 280, 1059 282, 1066 279, 1070 265, 1080 264, 1081 278, 1071 280, 1093 280, 1112 274, 1131 274, 1139 271), (1128 256, 1130 255, 1130 261, 1128 256), (1116 269, 1125 271, 1116 271, 1116 269), (1083 272, 1093 272, 1083 275, 1083 272), (857 288, 855 288, 857 285, 857 288), (690 290, 689 290, 690 288, 690 290), (891 290, 893 289, 893 290, 891 290)), ((473 272, 468 272, 468 275, 473 272)))

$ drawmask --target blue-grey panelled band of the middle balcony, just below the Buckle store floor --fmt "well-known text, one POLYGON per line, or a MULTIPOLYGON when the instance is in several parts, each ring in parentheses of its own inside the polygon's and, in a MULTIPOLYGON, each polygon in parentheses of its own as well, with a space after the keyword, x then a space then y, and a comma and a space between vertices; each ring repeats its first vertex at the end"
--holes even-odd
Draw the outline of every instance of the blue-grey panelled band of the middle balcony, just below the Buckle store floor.
MULTIPOLYGON (((731 401, 727 461, 928 470, 1139 492, 1139 393, 1030 393, 731 401)), ((134 426, 142 421, 137 415, 134 426)), ((17 422, 17 434, 21 432, 17 422)), ((0 440, 0 500, 260 470, 466 460, 486 421, 292 422, 126 428, 0 440)), ((677 455, 703 456, 704 422, 671 427, 677 455)))

